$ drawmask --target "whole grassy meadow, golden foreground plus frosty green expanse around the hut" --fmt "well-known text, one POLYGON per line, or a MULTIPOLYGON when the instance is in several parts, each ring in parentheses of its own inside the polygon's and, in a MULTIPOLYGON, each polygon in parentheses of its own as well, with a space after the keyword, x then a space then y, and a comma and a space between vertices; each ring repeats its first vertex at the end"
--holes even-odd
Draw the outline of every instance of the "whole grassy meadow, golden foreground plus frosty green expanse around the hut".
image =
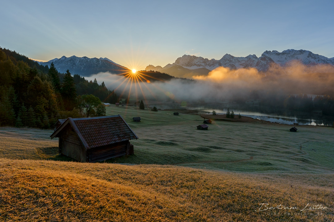
POLYGON ((0 221, 334 221, 333 128, 215 121, 197 130, 199 115, 107 114, 136 132, 135 155, 72 162, 57 155, 53 130, 0 128, 0 221), (298 209, 258 212, 261 203, 298 209), (307 204, 327 209, 300 211, 307 204))

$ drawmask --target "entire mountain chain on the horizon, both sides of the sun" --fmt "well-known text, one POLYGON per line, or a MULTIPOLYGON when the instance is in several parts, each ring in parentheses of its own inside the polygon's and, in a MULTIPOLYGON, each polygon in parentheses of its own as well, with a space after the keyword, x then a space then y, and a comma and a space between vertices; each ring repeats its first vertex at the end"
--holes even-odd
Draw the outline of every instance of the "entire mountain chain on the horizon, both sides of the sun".
MULTIPOLYGON (((265 72, 273 64, 285 66, 293 60, 298 60, 305 65, 330 64, 334 66, 334 57, 327 58, 307 50, 288 49, 283 52, 275 50, 265 51, 262 53, 261 57, 257 57, 256 55, 234 57, 225 54, 219 60, 183 55, 177 58, 173 64, 167 64, 164 67, 149 65, 145 70, 163 72, 175 77, 191 78, 196 75, 207 75, 211 70, 220 66, 229 67, 230 69, 254 67, 259 71, 265 72)), ((88 58, 86 56, 62 56, 60 59, 56 58, 48 62, 39 62, 39 64, 50 66, 51 62, 53 62, 60 73, 65 73, 66 70, 69 69, 71 74, 79 74, 81 76, 91 76, 100 72, 122 74, 129 71, 128 68, 114 63, 108 58, 98 59, 88 58)))

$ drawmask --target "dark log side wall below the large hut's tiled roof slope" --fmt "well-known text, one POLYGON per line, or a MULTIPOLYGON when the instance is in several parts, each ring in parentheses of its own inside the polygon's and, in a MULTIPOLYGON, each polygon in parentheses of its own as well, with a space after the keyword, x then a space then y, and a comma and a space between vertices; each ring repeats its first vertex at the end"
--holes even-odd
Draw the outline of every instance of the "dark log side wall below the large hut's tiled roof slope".
POLYGON ((103 161, 106 159, 129 155, 129 140, 118 142, 106 146, 92 148, 88 151, 89 162, 103 161))

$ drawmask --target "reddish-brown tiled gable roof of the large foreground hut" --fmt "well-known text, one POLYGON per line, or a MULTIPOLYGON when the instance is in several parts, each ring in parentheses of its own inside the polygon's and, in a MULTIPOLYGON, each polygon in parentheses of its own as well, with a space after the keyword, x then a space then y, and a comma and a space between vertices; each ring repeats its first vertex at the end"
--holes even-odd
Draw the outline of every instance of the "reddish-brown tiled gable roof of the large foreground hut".
POLYGON ((58 137, 58 133, 67 124, 71 124, 73 130, 87 149, 130 139, 138 139, 138 136, 132 131, 121 115, 91 118, 69 117, 50 137, 58 137))

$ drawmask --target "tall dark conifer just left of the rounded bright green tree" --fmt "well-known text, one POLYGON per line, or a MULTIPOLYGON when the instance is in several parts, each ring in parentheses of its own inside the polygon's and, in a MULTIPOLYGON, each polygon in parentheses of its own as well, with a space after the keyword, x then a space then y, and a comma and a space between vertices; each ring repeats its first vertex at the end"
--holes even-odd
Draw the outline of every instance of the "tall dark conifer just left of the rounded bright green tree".
POLYGON ((64 81, 61 89, 61 96, 64 102, 64 108, 67 111, 73 110, 75 107, 75 99, 76 99, 76 89, 74 85, 73 77, 69 70, 66 71, 64 76, 64 81))

